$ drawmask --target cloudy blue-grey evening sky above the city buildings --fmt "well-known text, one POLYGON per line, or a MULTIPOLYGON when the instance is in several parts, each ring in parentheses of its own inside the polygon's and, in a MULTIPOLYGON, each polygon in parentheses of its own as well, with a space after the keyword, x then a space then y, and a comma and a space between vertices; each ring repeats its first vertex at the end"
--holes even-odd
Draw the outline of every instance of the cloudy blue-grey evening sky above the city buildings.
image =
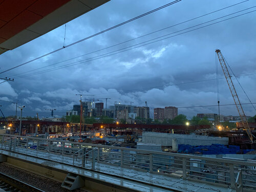
MULTIPOLYGON (((171 1, 112 0, 67 23, 66 45, 169 2, 171 1)), ((0 84, 0 99, 14 102, 18 100, 19 105, 26 105, 24 109, 25 116, 35 116, 36 113, 39 116, 49 116, 50 111, 45 109, 52 108, 56 109, 54 111, 56 115, 65 115, 65 112, 71 110, 74 104, 79 104, 79 97, 75 94, 95 95, 94 98, 111 98, 111 100, 108 100, 108 106, 113 105, 115 101, 134 102, 133 104, 137 106, 144 106, 145 101, 147 101, 148 106, 152 109, 164 106, 215 105, 217 104, 215 49, 220 49, 234 74, 238 76, 238 80, 251 101, 256 102, 256 12, 139 48, 99 58, 102 57, 99 56, 102 54, 130 47, 166 34, 173 33, 165 37, 173 36, 188 31, 183 29, 251 8, 256 6, 256 2, 253 0, 109 49, 87 54, 239 2, 243 1, 182 0, 129 24, 1 74, 0 77, 7 76, 15 80, 14 82, 0 84), (183 31, 177 33, 180 30, 183 31), (46 67, 73 57, 77 58, 46 67), (90 59, 92 57, 99 59, 92 60, 90 59), (50 71, 52 68, 84 59, 89 59, 89 61, 50 71), (38 69, 40 67, 46 68, 38 69), (34 69, 38 70, 28 72, 34 69), (41 72, 42 70, 47 72, 18 78, 21 75, 41 72)), ((256 10, 256 7, 198 27, 253 10, 256 10)), ((0 71, 61 48, 64 33, 65 26, 60 26, 15 50, 0 55, 0 71)), ((219 80, 220 103, 233 104, 219 62, 218 69, 219 78, 221 78, 219 80)), ((249 100, 237 81, 235 79, 233 81, 241 102, 248 103, 249 100)), ((92 98, 83 96, 82 100, 92 98)), ((101 101, 105 102, 104 99, 101 101)), ((5 115, 15 115, 14 104, 0 101, 0 105, 3 105, 1 109, 5 115)), ((220 110, 223 115, 238 115, 235 106, 222 106, 220 110)), ((244 110, 248 116, 256 114, 252 105, 244 105, 244 110)), ((153 110, 151 111, 153 115, 153 110)), ((178 112, 191 118, 197 113, 218 113, 218 108, 215 106, 180 108, 178 112)))

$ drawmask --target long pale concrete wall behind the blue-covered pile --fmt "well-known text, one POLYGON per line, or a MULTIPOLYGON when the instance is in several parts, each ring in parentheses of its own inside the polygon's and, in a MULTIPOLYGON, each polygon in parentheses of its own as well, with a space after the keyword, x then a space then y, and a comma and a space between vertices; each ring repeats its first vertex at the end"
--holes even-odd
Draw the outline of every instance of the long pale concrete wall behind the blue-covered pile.
POLYGON ((208 137, 201 135, 183 135, 183 134, 169 134, 169 133, 156 133, 156 132, 143 132, 143 143, 154 143, 162 146, 172 146, 172 140, 177 139, 178 144, 189 145, 211 145, 211 144, 224 144, 228 145, 228 137, 208 137))

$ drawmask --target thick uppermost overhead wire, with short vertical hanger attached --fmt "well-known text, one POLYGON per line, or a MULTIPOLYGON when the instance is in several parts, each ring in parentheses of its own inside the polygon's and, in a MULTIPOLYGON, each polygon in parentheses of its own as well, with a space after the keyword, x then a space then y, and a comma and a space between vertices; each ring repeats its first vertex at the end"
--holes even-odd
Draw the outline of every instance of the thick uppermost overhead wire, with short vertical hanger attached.
POLYGON ((126 20, 125 22, 123 22, 123 23, 121 23, 121 24, 118 24, 118 25, 113 26, 113 27, 111 27, 111 28, 108 28, 108 29, 105 29, 105 30, 103 30, 103 31, 100 31, 100 32, 98 32, 98 33, 96 33, 96 34, 94 34, 94 35, 91 35, 91 36, 88 36, 88 37, 86 37, 86 38, 83 38, 83 39, 80 39, 80 40, 78 40, 78 41, 75 41, 75 42, 73 42, 72 44, 69 44, 69 45, 67 45, 67 46, 65 46, 65 47, 56 49, 56 50, 54 50, 54 51, 52 51, 52 52, 50 52, 50 53, 47 53, 47 54, 45 54, 45 55, 41 55, 41 56, 36 57, 36 58, 34 58, 34 59, 32 59, 32 60, 29 60, 29 61, 27 61, 27 62, 24 62, 24 63, 22 63, 22 64, 20 64, 20 65, 18 65, 18 66, 15 66, 15 67, 12 67, 12 68, 10 68, 10 69, 7 69, 7 70, 5 70, 5 71, 3 71, 3 72, 0 72, 0 74, 5 73, 5 72, 10 71, 10 70, 13 70, 13 69, 15 69, 15 68, 18 68, 18 67, 20 67, 20 66, 24 66, 24 65, 26 65, 26 64, 28 64, 28 63, 30 63, 30 62, 32 62, 32 61, 35 61, 35 60, 40 59, 40 58, 42 58, 42 57, 46 57, 46 56, 48 56, 48 55, 50 55, 50 54, 53 54, 53 53, 56 53, 56 52, 58 52, 58 51, 60 51, 60 50, 62 50, 62 49, 71 47, 71 46, 73 46, 73 45, 75 45, 75 44, 78 44, 79 42, 82 42, 82 41, 87 40, 87 39, 89 39, 89 38, 95 37, 95 36, 97 36, 97 35, 99 35, 99 34, 105 33, 105 32, 107 32, 107 31, 110 31, 110 30, 112 30, 112 29, 115 29, 115 28, 117 28, 117 27, 120 27, 120 26, 122 26, 122 25, 124 25, 124 24, 130 23, 130 22, 132 22, 133 20, 136 20, 136 19, 141 18, 141 17, 143 17, 143 16, 145 16, 145 15, 148 15, 148 14, 154 13, 154 12, 156 12, 156 11, 158 11, 158 10, 161 10, 161 9, 163 9, 163 8, 165 8, 165 7, 168 7, 168 6, 170 6, 170 5, 176 4, 176 3, 180 2, 180 1, 181 1, 181 0, 175 0, 174 2, 171 2, 171 3, 168 3, 168 4, 164 5, 164 6, 158 7, 158 8, 156 8, 156 9, 154 9, 154 10, 148 11, 148 12, 146 12, 146 13, 144 13, 144 14, 142 14, 142 15, 136 16, 136 17, 134 17, 134 18, 132 18, 132 19, 126 20))

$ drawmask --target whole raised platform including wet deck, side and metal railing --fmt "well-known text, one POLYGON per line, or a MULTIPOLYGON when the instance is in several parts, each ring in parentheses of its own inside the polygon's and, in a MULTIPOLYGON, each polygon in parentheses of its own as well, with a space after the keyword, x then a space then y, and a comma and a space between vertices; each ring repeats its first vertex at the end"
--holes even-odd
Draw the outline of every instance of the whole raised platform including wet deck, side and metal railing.
POLYGON ((0 160, 90 191, 255 191, 256 163, 0 135, 0 160))

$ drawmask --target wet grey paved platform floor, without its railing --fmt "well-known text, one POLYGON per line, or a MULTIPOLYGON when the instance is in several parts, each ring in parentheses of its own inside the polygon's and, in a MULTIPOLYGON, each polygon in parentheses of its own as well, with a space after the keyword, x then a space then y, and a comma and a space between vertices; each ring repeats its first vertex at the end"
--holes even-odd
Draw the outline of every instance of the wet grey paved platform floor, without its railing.
MULTIPOLYGON (((179 177, 170 177, 154 173, 142 172, 103 163, 95 163, 95 169, 91 170, 91 162, 87 162, 84 168, 73 166, 73 158, 47 152, 27 150, 17 147, 15 152, 0 150, 0 154, 21 161, 30 162, 42 166, 74 173, 83 177, 98 180, 115 186, 120 186, 126 191, 165 192, 165 191, 191 191, 191 192, 234 192, 235 189, 206 184, 198 181, 184 180, 179 177)), ((102 190, 104 191, 104 190, 102 190)))

